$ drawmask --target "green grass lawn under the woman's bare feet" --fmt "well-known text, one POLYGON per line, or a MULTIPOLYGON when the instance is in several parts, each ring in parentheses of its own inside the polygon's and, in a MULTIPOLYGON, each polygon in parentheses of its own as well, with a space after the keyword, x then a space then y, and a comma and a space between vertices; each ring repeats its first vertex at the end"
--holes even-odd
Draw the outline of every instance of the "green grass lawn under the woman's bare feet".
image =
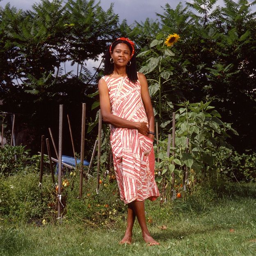
POLYGON ((75 224, 66 219, 62 224, 40 227, 3 222, 0 224, 0 255, 254 256, 256 185, 248 188, 253 192, 231 199, 211 200, 207 194, 197 194, 190 201, 176 200, 165 206, 160 206, 159 201, 147 201, 146 217, 153 219, 149 230, 160 246, 149 247, 144 243, 137 222, 133 244, 118 245, 125 230, 122 216, 110 227, 92 227, 86 222, 75 224), (167 229, 160 229, 162 225, 167 229))

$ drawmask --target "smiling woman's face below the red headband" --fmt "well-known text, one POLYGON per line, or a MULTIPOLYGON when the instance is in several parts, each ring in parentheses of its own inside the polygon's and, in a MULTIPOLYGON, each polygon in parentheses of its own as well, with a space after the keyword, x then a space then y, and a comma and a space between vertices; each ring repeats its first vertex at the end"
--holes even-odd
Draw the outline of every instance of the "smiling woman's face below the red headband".
POLYGON ((118 43, 112 53, 112 58, 116 66, 126 66, 130 60, 130 48, 126 43, 118 43))

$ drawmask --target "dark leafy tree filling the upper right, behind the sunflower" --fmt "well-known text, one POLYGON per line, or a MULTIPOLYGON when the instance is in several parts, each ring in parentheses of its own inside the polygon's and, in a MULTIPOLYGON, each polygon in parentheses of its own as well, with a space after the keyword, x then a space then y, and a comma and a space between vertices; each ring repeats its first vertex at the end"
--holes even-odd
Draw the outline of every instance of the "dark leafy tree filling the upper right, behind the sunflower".
MULTIPOLYGON (((165 5, 162 33, 176 32, 183 43, 175 46, 188 72, 173 76, 172 93, 190 102, 211 101, 225 122, 233 123, 240 137, 231 138, 242 152, 255 141, 255 13, 246 0, 195 0, 172 9, 165 5), (176 79, 178 78, 178 79, 176 79), (246 126, 245 126, 246 123, 246 126)), ((151 78, 151 77, 149 77, 151 78)), ((172 100, 175 104, 178 101, 172 100)))

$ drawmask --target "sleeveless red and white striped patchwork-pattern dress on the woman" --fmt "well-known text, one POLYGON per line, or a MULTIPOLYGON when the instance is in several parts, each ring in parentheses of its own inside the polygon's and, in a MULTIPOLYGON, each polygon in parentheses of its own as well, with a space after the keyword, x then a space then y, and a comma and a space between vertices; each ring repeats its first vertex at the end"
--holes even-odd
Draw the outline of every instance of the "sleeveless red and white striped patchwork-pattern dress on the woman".
MULTIPOLYGON (((107 84, 113 115, 148 123, 139 80, 136 83, 129 82, 127 76, 104 76, 103 80, 107 84)), ((153 140, 139 133, 137 129, 110 125, 110 133, 114 171, 121 200, 124 203, 145 199, 154 201, 159 197, 159 191, 154 176, 153 140)))

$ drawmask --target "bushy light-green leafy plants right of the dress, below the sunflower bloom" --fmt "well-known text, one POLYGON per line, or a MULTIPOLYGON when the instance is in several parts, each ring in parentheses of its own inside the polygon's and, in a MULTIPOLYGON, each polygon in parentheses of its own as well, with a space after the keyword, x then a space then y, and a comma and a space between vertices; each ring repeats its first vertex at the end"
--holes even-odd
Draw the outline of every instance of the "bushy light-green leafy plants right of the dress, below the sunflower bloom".
POLYGON ((196 183, 216 182, 222 170, 222 150, 231 148, 226 142, 230 137, 228 133, 237 134, 231 124, 220 120, 220 114, 210 106, 210 102, 185 102, 178 106, 175 148, 170 148, 174 155, 168 157, 166 154, 167 139, 159 144, 158 158, 161 162, 157 164, 160 171, 157 181, 163 183, 164 194, 168 184, 170 191, 173 185, 182 184, 184 192, 189 190, 192 193, 196 183))

